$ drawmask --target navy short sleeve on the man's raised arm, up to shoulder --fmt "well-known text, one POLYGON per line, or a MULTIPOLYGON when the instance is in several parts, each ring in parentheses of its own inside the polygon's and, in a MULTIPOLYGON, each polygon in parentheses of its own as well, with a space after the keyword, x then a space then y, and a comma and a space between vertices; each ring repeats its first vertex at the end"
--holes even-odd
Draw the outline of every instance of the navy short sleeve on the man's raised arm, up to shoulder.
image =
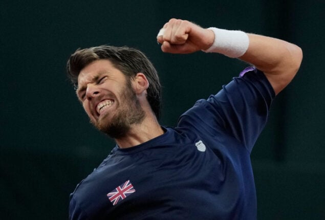
POLYGON ((179 126, 200 126, 199 131, 224 132, 241 142, 249 152, 268 119, 274 90, 263 72, 250 67, 207 100, 201 99, 184 113, 179 126))

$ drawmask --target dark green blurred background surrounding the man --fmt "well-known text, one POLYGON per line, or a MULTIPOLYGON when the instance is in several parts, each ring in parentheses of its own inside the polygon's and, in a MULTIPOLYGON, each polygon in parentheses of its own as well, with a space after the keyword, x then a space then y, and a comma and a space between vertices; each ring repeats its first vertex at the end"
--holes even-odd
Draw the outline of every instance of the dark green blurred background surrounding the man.
POLYGON ((164 54, 169 18, 240 29, 302 48, 301 68, 273 103, 252 152, 258 219, 325 219, 325 1, 0 2, 0 218, 68 219, 69 194, 114 142, 89 123, 66 61, 77 48, 140 49, 157 68, 163 125, 247 64, 220 54, 164 54))

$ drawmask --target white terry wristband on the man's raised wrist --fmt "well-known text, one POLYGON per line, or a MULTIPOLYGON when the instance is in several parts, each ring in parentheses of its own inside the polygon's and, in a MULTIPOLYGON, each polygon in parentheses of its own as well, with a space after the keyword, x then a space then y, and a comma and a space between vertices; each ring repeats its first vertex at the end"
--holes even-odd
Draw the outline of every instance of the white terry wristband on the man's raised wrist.
POLYGON ((214 32, 214 42, 206 53, 221 53, 237 58, 245 54, 249 46, 248 35, 243 31, 230 31, 219 28, 208 28, 214 32))

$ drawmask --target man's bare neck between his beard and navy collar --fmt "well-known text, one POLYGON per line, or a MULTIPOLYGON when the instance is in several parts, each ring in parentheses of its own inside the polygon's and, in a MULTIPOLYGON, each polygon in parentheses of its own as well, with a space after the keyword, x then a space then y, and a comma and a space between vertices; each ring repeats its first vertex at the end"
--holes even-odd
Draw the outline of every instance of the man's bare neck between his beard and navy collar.
POLYGON ((131 127, 127 135, 120 139, 115 139, 120 148, 133 147, 164 134, 163 129, 156 117, 145 117, 141 124, 131 127))

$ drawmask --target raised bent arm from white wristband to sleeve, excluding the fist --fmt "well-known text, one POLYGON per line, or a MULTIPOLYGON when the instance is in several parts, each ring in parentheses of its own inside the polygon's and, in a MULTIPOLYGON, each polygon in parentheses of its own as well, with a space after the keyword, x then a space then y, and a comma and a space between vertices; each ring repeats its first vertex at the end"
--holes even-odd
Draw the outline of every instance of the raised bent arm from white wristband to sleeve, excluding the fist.
POLYGON ((263 71, 275 94, 283 90, 297 73, 301 49, 284 40, 241 31, 210 28, 214 42, 206 52, 221 53, 251 63, 263 71))

